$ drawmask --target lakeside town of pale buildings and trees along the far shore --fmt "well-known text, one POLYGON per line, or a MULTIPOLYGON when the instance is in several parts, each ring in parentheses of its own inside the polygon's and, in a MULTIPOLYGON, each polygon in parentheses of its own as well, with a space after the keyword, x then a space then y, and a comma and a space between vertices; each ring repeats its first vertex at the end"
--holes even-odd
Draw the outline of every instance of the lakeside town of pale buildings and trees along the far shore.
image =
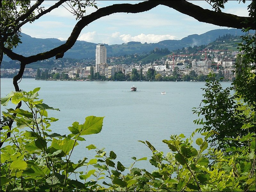
MULTIPOLYGON (((224 81, 233 81, 235 78, 235 62, 238 51, 216 50, 206 47, 197 53, 188 53, 191 47, 185 47, 151 62, 122 64, 126 57, 107 57, 104 44, 98 44, 95 49, 95 60, 72 63, 68 59, 49 59, 54 67, 25 68, 23 78, 42 80, 76 80, 76 81, 204 81, 210 72, 216 73, 224 81), (187 54, 186 54, 187 53, 187 54), (107 62, 108 61, 108 62, 107 62)), ((152 53, 163 52, 156 48, 152 53)), ((166 51, 166 50, 164 50, 166 51)), ((168 51, 168 50, 167 50, 168 51)), ((18 62, 17 62, 18 63, 18 62)), ((1 78, 12 78, 19 69, 1 68, 1 78)))

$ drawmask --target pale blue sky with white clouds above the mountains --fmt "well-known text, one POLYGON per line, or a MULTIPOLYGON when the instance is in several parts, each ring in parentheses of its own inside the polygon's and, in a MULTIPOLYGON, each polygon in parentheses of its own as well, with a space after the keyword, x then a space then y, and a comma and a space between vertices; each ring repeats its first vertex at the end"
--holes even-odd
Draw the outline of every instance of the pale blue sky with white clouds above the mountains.
MULTIPOLYGON (((34 4, 36 1, 31 1, 34 4)), ((48 8, 57 1, 44 1, 41 6, 48 8)), ((112 4, 130 3, 136 4, 143 1, 95 1, 98 8, 112 4)), ((206 1, 188 1, 201 6, 204 9, 213 10, 206 1)), ((222 12, 248 17, 247 6, 242 2, 231 0, 225 4, 222 12)), ((63 4, 68 8, 67 4, 63 4)), ((33 23, 27 23, 21 28, 21 32, 36 38, 57 38, 65 41, 70 36, 75 24, 76 16, 60 6, 56 10, 44 15, 33 23)), ((86 15, 97 9, 88 7, 86 15)), ((77 40, 91 43, 122 44, 130 41, 138 41, 144 44, 158 43, 163 40, 180 40, 188 35, 204 34, 213 29, 227 29, 208 23, 199 22, 188 15, 182 14, 164 5, 142 13, 115 13, 87 25, 80 33, 77 40)))

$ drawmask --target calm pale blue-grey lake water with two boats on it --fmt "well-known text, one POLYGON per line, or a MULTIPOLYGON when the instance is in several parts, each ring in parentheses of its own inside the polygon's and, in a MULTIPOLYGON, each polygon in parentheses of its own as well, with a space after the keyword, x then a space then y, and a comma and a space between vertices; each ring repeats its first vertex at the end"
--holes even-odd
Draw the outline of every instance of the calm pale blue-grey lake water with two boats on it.
MULTIPOLYGON (((133 163, 133 156, 147 156, 150 159, 151 151, 138 140, 148 140, 157 150, 166 154, 169 150, 162 140, 180 133, 189 137, 198 128, 193 123, 197 116, 193 115, 192 108, 198 107, 203 99, 204 92, 200 88, 204 84, 22 79, 19 86, 24 91, 41 87, 39 98, 47 105, 60 109, 48 111, 48 117, 59 119, 52 123, 52 132, 69 134, 68 126, 73 122, 83 124, 87 116, 105 116, 102 131, 84 136, 86 141, 79 142, 73 154, 73 162, 77 163, 84 156, 93 158, 96 153, 85 147, 94 144, 98 148, 105 148, 108 154, 113 150, 117 155, 116 162, 120 161, 129 167, 133 163), (133 85, 137 86, 136 92, 130 91, 133 85), (163 91, 165 95, 161 94, 163 91)), ((226 88, 230 84, 223 82, 222 86, 226 88)), ((13 90, 12 79, 1 79, 1 98, 13 90)), ((152 171, 154 167, 148 160, 138 162, 135 167, 152 171)))

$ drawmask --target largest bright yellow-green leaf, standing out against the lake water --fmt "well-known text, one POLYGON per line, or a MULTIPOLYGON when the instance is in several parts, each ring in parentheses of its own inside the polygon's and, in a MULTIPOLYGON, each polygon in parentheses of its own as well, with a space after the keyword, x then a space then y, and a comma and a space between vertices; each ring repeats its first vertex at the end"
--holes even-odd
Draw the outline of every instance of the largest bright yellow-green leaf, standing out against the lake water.
POLYGON ((78 126, 81 135, 90 135, 99 133, 102 130, 104 117, 88 116, 85 122, 78 126))

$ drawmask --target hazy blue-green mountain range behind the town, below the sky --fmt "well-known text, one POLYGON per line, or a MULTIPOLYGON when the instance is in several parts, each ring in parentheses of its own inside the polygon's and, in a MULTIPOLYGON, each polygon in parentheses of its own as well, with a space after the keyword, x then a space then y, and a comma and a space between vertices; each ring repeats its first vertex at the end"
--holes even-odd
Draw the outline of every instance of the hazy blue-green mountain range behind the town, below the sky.
MULTIPOLYGON (((181 40, 164 40, 158 43, 145 43, 141 44, 140 42, 128 42, 123 44, 113 44, 108 45, 104 44, 107 48, 107 56, 124 56, 133 53, 147 53, 154 48, 158 47, 159 49, 167 48, 170 51, 182 49, 182 47, 194 47, 200 45, 207 45, 213 41, 215 41, 219 36, 223 35, 234 35, 234 36, 242 36, 245 35, 240 29, 214 29, 208 31, 204 34, 197 35, 189 35, 187 37, 182 38, 181 40)), ((24 33, 21 33, 21 42, 13 51, 17 54, 21 54, 25 57, 30 55, 35 55, 41 52, 49 51, 61 44, 65 43, 65 41, 60 41, 55 38, 34 38, 24 33)), ((74 46, 68 50, 65 54, 65 58, 73 58, 73 59, 92 59, 95 58, 95 43, 89 43, 86 41, 76 41, 74 46)), ((10 58, 4 55, 3 60, 9 61, 10 58)))

